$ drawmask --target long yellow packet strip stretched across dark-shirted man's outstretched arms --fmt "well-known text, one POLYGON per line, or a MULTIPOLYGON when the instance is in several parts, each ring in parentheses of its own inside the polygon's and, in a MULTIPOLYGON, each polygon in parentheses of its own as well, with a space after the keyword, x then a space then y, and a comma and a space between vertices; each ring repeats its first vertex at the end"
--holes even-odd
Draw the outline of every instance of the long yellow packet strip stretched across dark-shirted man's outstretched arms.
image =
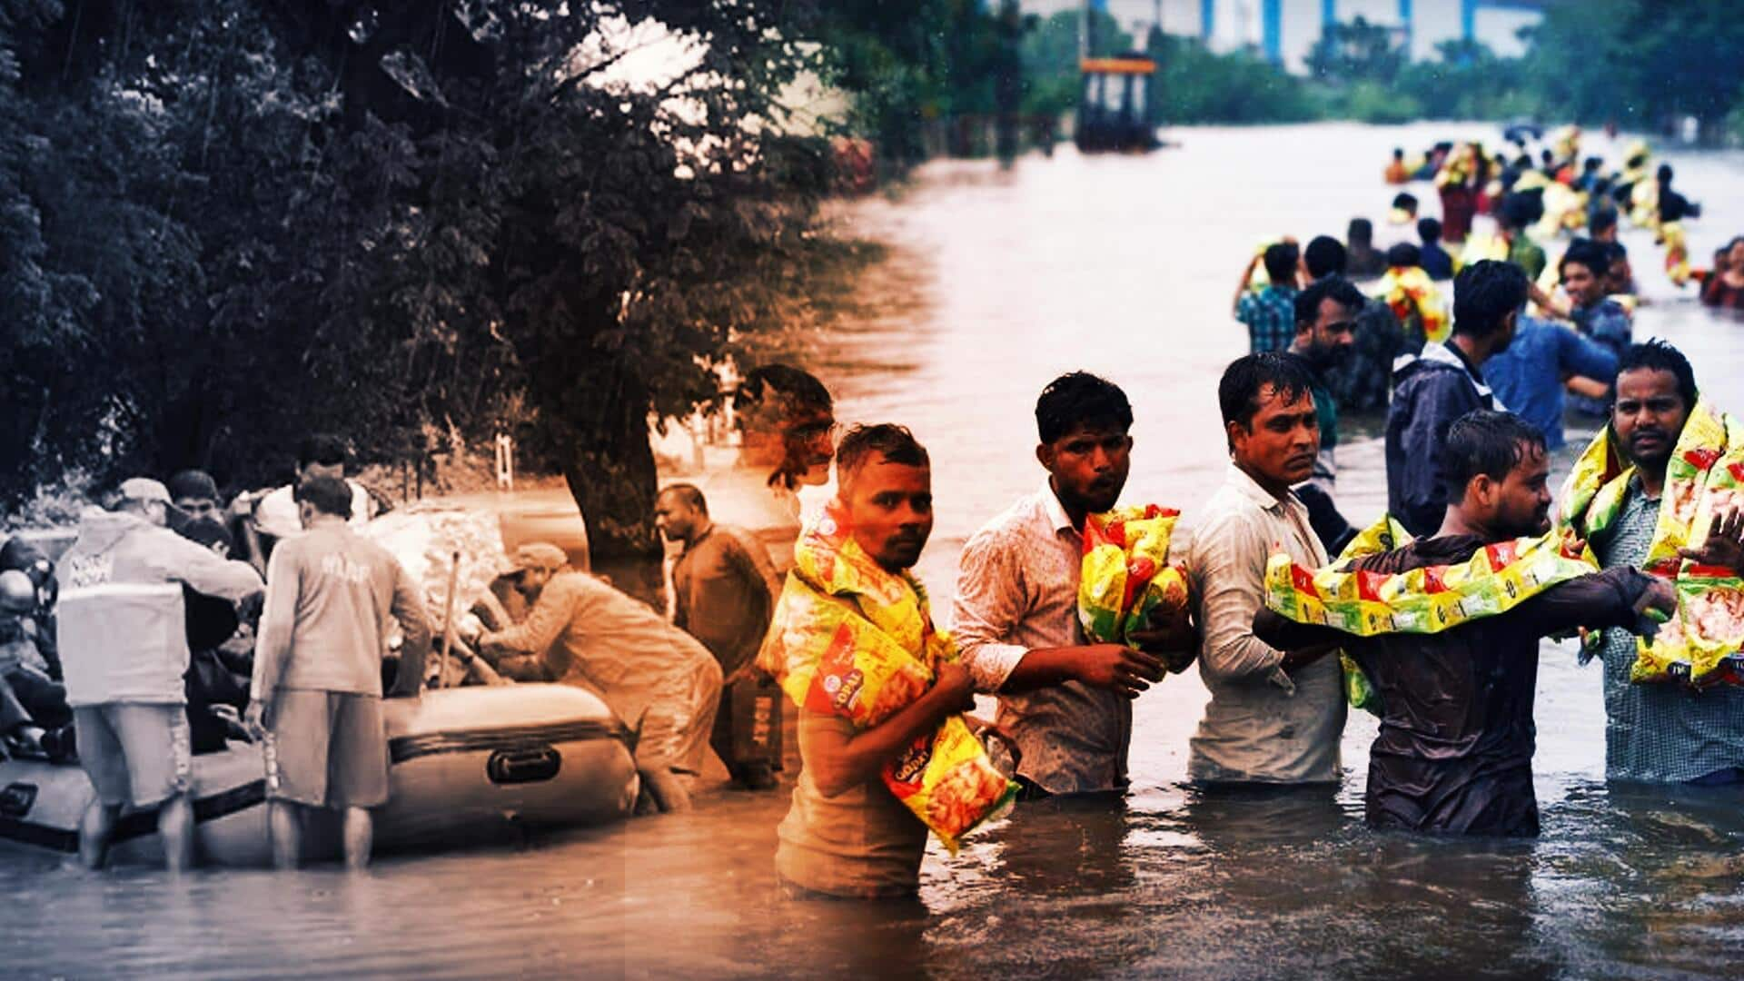
POLYGON ((1556 531, 1488 545, 1467 562, 1399 574, 1345 573, 1338 564, 1310 571, 1280 553, 1266 562, 1266 606, 1298 623, 1359 637, 1439 634, 1594 571, 1564 550, 1556 531))

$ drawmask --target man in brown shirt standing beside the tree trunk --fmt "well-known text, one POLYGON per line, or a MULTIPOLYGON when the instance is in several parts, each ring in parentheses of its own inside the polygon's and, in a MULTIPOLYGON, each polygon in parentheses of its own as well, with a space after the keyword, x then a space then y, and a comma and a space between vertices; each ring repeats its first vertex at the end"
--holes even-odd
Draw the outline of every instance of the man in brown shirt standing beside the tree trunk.
POLYGON ((752 663, 774 609, 769 557, 743 531, 710 520, 708 501, 691 484, 661 490, 654 527, 666 541, 684 543, 671 566, 673 625, 720 663, 720 710, 710 744, 734 784, 773 787, 781 763, 781 691, 752 663), (736 731, 743 738, 734 738, 736 731))

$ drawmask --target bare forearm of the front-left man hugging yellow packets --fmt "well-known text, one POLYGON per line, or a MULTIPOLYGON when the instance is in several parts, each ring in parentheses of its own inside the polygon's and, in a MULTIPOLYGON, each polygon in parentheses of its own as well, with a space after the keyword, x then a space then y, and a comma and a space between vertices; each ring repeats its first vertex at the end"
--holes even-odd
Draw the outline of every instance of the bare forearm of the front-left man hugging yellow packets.
POLYGON ((924 695, 882 723, 853 735, 830 726, 807 726, 806 717, 818 712, 800 709, 799 751, 818 792, 834 798, 874 780, 916 738, 937 730, 945 717, 973 707, 975 689, 968 669, 944 663, 924 695))

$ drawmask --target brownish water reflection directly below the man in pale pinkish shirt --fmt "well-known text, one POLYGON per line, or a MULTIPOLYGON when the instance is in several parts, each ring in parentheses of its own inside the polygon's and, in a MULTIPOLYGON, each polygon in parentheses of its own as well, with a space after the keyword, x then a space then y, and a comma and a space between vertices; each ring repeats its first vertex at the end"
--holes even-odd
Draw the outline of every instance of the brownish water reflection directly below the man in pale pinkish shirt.
POLYGON ((1025 801, 1003 833, 996 875, 1024 895, 1120 894, 1135 882, 1125 848, 1130 817, 1120 792, 1025 801))

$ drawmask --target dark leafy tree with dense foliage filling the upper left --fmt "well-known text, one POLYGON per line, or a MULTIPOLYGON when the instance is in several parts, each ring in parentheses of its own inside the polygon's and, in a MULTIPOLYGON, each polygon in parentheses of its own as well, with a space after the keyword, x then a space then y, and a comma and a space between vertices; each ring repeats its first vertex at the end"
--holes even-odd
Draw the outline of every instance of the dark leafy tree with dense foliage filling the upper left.
POLYGON ((652 548, 649 419, 800 302, 807 10, 0 0, 0 492, 532 422, 652 548))

